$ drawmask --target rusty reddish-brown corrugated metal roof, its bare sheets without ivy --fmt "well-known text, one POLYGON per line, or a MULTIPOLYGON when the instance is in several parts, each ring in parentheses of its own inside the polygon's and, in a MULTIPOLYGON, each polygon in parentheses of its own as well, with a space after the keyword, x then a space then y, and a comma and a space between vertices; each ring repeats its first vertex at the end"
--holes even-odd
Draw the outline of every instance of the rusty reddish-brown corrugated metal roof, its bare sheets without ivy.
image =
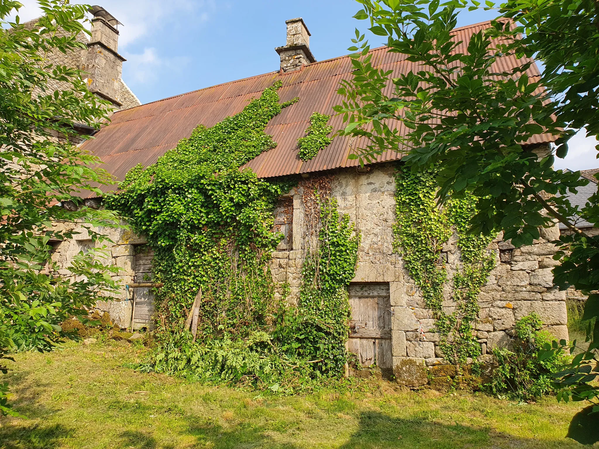
MULTIPOLYGON (((463 41, 458 51, 465 52, 470 36, 489 25, 490 22, 482 22, 455 29, 456 38, 463 41)), ((387 47, 374 48, 371 54, 373 65, 381 68, 398 73, 407 73, 416 68, 414 63, 405 60, 403 54, 389 53, 387 47)), ((524 62, 527 60, 516 62, 515 57, 504 57, 498 60, 495 69, 498 72, 507 71, 524 62)), ((295 96, 300 101, 285 108, 265 129, 278 143, 277 147, 260 154, 246 167, 259 177, 267 178, 356 166, 358 161, 349 160, 347 156, 352 148, 359 148, 361 142, 350 141, 349 137, 336 137, 331 145, 308 162, 303 162, 297 156, 297 139, 305 134, 311 114, 333 113, 332 107, 341 102, 337 94, 339 82, 348 77, 352 70, 350 58, 341 56, 311 63, 297 72, 280 75, 277 71, 257 75, 119 111, 111 117, 111 124, 102 128, 94 139, 87 141, 84 148, 99 156, 105 163, 104 168, 122 180, 129 169, 138 163, 147 166, 156 162, 165 151, 175 148, 181 138, 189 137, 199 124, 210 127, 227 116, 239 113, 248 101, 257 98, 264 89, 280 79, 283 83, 279 89, 281 101, 288 101, 295 96)), ((535 78, 540 76, 536 65, 531 65, 528 75, 535 78)), ((343 126, 341 117, 332 117, 329 124, 334 129, 343 126)), ((540 135, 535 136, 530 143, 553 140, 550 135, 540 135)), ((377 157, 377 161, 400 158, 400 153, 389 150, 377 157)), ((116 186, 106 190, 114 188, 116 186)))

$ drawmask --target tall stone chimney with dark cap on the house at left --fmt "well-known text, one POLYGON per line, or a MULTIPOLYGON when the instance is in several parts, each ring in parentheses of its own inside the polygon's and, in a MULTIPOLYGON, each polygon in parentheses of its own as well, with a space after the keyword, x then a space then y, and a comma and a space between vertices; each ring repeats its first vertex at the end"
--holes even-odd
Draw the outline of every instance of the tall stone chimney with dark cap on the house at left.
POLYGON ((122 23, 98 5, 89 8, 89 12, 93 14, 92 39, 87 44, 83 64, 83 70, 89 74, 87 84, 91 92, 120 107, 120 79, 126 59, 117 53, 117 26, 122 23))

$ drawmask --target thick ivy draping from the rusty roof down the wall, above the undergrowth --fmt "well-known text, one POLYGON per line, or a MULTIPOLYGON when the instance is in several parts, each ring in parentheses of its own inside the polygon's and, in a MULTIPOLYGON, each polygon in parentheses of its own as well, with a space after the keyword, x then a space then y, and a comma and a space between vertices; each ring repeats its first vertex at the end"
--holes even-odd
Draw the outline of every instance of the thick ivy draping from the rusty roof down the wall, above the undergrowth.
POLYGON ((267 182, 244 163, 276 146, 264 128, 283 107, 280 82, 244 110, 189 139, 154 165, 137 166, 122 192, 107 198, 147 234, 155 248, 153 275, 161 330, 176 330, 202 289, 198 331, 246 337, 272 323, 268 268, 280 235, 271 232, 273 208, 289 181, 267 182))

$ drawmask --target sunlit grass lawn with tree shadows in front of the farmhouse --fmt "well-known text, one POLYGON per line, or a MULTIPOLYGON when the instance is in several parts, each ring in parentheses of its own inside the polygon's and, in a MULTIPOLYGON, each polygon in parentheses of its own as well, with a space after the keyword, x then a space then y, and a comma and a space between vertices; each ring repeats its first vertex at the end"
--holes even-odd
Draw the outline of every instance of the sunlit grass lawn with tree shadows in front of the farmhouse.
POLYGON ((128 342, 17 354, 1 449, 574 448, 580 405, 516 405, 483 394, 410 392, 371 381, 352 393, 261 397, 123 368, 128 342))

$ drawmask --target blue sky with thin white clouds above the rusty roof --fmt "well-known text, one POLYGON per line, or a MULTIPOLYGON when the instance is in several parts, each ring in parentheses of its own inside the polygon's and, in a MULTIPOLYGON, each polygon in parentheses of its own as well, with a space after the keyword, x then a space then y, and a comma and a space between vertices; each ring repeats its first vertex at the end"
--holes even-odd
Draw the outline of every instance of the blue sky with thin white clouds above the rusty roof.
MULTIPOLYGON (((35 0, 20 0, 22 20, 39 16, 35 0)), ((354 0, 95 0, 123 23, 119 53, 126 57, 123 80, 147 103, 214 84, 279 69, 274 47, 285 45, 285 20, 303 17, 317 60, 347 54, 356 27, 354 0)), ((492 19, 493 11, 464 11, 458 26, 492 19)), ((367 35, 372 47, 384 38, 367 35)), ((582 135, 571 142, 558 168, 599 166, 597 142, 582 135)))

